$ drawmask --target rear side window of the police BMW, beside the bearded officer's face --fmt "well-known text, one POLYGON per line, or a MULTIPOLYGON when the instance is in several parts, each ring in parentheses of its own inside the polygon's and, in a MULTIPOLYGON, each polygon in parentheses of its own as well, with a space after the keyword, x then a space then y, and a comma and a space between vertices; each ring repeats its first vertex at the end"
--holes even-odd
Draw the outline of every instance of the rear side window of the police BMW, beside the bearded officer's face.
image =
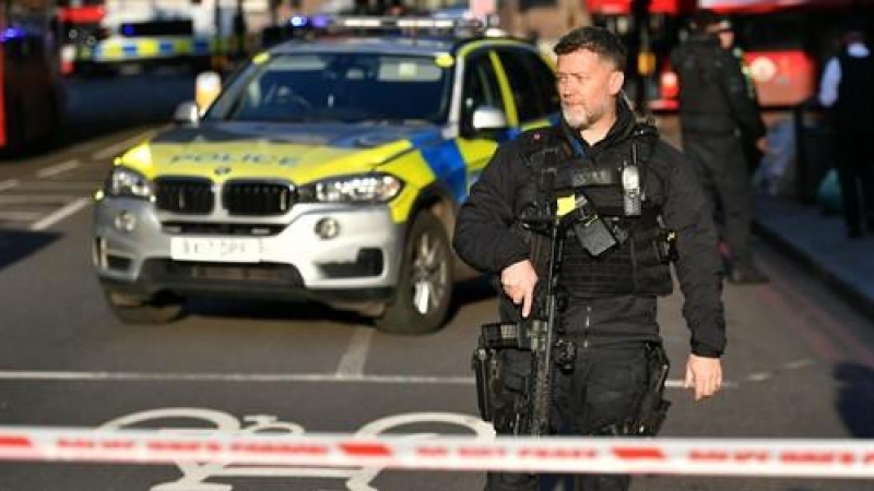
POLYGON ((501 49, 498 58, 507 72, 520 122, 544 118, 558 110, 555 75, 543 59, 523 49, 501 49))

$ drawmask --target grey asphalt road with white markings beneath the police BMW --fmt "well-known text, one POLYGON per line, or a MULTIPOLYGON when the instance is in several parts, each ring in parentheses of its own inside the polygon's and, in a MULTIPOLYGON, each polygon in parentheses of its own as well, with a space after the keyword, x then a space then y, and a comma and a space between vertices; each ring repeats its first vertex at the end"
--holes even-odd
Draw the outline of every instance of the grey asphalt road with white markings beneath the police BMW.
MULTIPOLYGON (((180 79, 166 87, 177 87, 184 100, 187 85, 180 79)), ((172 325, 120 325, 91 267, 88 196, 111 155, 162 121, 158 105, 125 94, 161 92, 169 110, 176 96, 154 88, 160 84, 149 76, 113 83, 111 100, 88 85, 79 86, 76 97, 103 98, 117 109, 132 105, 141 116, 98 111, 93 127, 80 128, 81 139, 26 160, 0 163, 0 424, 421 438, 487 430, 475 418, 469 363, 476 326, 494 319, 495 299, 483 282, 460 286, 449 325, 427 336, 385 335, 363 319, 316 306, 215 299, 194 301, 191 314, 172 325)), ((719 397, 695 404, 680 387, 688 345, 682 297, 662 301, 660 321, 674 363, 673 407, 663 435, 874 436, 873 326, 766 244, 758 250, 772 282, 725 287, 730 347, 719 397)), ((475 472, 0 464, 0 490, 14 491, 450 491, 482 483, 475 472)), ((638 477, 634 490, 870 486, 663 476, 638 477)))

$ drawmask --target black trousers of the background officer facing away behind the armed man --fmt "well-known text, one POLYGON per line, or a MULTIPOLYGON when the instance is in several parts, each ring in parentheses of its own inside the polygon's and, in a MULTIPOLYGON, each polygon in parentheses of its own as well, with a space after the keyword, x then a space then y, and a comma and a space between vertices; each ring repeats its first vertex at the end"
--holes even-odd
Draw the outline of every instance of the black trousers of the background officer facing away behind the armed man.
POLYGON ((732 267, 753 266, 753 184, 743 139, 733 133, 683 132, 683 152, 692 160, 710 206, 721 211, 721 229, 732 267))

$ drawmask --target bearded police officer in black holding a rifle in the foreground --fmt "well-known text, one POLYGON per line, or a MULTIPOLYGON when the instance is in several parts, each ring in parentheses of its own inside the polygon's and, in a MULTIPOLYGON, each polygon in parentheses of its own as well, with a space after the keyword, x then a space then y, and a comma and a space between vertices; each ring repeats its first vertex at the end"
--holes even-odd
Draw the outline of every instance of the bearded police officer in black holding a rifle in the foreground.
MULTIPOLYGON (((670 266, 657 252, 664 228, 676 233, 675 271, 692 331, 686 386, 696 400, 719 391, 725 327, 717 235, 683 155, 659 140, 652 127, 639 124, 622 97, 626 51, 619 39, 601 27, 581 27, 566 34, 554 51, 560 121, 498 147, 461 207, 453 246, 469 264, 499 277, 501 320, 520 323, 531 315, 535 286, 547 274, 532 252, 538 231, 520 217, 542 206, 560 209, 552 199, 543 202, 548 195, 544 167, 555 164, 555 176, 576 172, 581 184, 572 192, 588 196, 616 243, 593 255, 579 236, 565 242, 560 333, 577 350, 569 367, 556 369, 551 426, 560 434, 616 434, 621 431, 612 430, 635 417, 649 376, 647 351, 661 343, 657 297, 673 287, 670 266), (622 179, 630 167, 638 182, 622 179)), ((562 188, 560 179, 556 182, 554 189, 562 188)), ((497 356, 493 421, 498 433, 512 434, 516 403, 524 398, 531 376, 530 352, 507 348, 497 356)), ((626 490, 629 482, 624 475, 587 475, 575 480, 575 489, 626 490)), ((531 475, 487 477, 489 491, 536 486, 531 475)))

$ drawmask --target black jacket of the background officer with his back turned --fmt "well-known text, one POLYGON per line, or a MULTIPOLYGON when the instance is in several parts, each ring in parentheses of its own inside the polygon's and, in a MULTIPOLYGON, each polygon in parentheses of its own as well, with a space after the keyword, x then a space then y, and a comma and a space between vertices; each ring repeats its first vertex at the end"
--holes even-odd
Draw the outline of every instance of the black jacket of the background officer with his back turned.
POLYGON ((752 140, 767 129, 749 97, 740 60, 712 36, 693 36, 671 55, 680 77, 680 121, 684 132, 743 132, 752 140))

